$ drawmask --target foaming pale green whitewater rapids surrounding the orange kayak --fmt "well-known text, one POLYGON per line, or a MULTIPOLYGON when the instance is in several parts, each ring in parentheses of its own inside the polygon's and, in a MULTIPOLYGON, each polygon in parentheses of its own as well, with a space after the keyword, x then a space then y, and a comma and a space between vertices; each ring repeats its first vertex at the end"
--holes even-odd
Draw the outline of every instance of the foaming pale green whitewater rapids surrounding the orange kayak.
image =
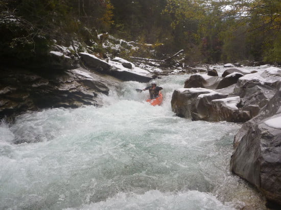
POLYGON ((171 111, 186 75, 157 80, 162 106, 146 84, 126 82, 106 106, 49 109, 0 126, 0 209, 264 209, 229 172, 240 124, 191 121, 171 111), (15 144, 26 141, 29 143, 15 144))

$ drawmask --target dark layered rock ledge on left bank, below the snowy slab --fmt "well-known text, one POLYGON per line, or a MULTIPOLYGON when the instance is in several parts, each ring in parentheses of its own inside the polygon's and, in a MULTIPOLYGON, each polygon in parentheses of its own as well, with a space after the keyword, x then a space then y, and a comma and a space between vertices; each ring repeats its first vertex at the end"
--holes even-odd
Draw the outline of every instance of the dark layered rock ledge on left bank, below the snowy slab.
POLYGON ((52 74, 9 68, 1 73, 0 118, 44 108, 102 106, 98 96, 109 92, 108 83, 82 68, 52 74))

